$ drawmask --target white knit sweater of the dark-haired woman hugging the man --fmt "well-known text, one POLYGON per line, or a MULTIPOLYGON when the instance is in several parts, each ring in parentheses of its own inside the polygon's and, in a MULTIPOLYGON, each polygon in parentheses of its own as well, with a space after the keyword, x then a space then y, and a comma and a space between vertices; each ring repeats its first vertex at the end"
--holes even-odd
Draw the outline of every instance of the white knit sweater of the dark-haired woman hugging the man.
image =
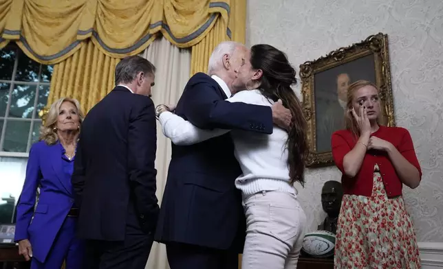
MULTIPOLYGON (((261 106, 272 106, 274 103, 261 95, 258 90, 241 91, 226 101, 261 106)), ((163 134, 175 145, 192 145, 230 132, 222 129, 199 129, 191 122, 170 112, 160 114, 159 121, 163 134)), ((241 189, 244 196, 260 191, 276 190, 296 194, 296 190, 290 185, 286 148, 288 132, 274 126, 272 134, 244 130, 233 130, 230 134, 235 144, 235 157, 243 172, 235 180, 235 186, 241 189)))

